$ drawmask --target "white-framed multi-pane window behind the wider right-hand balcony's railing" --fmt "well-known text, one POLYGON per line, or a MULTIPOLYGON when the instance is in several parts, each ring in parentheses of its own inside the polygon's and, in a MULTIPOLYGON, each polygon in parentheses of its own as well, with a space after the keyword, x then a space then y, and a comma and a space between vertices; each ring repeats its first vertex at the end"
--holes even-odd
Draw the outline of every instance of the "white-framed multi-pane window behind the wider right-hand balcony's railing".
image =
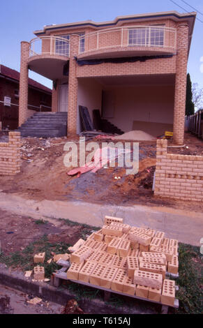
POLYGON ((162 27, 137 27, 129 29, 129 45, 163 46, 164 28, 162 27))

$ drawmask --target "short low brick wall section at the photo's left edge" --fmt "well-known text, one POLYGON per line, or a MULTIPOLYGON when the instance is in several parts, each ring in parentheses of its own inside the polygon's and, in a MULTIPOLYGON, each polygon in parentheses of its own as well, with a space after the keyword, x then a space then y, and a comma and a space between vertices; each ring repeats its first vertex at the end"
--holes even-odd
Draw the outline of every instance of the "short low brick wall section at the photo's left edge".
POLYGON ((0 142, 0 174, 20 172, 20 132, 10 132, 8 142, 0 142))

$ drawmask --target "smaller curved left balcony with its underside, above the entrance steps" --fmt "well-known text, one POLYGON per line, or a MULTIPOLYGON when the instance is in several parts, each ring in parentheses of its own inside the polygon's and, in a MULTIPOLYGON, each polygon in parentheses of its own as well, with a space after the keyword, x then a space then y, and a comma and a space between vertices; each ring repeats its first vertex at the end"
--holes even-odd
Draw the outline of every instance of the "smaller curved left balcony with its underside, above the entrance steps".
POLYGON ((64 77, 64 65, 69 56, 69 36, 42 36, 30 41, 28 65, 34 72, 57 80, 64 77))

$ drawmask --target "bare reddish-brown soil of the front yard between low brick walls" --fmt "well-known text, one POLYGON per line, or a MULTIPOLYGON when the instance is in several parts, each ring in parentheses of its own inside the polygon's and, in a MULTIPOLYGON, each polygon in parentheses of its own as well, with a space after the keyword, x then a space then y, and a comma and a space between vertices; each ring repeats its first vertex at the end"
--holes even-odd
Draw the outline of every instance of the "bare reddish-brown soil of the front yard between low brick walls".
MULTIPOLYGON (((0 141, 6 141, 7 135, 1 133, 0 141)), ((101 168, 98 172, 87 172, 80 177, 68 177, 72 168, 65 167, 63 158, 64 144, 78 141, 78 137, 63 138, 22 138, 22 168, 15 177, 0 176, 0 190, 15 193, 34 200, 83 200, 100 204, 144 204, 166 206, 188 211, 202 211, 201 202, 184 202, 167 197, 153 195, 153 172, 156 165, 156 142, 139 142, 139 172, 126 174, 125 167, 101 168), (120 177, 121 179, 114 179, 120 177)), ((92 139, 87 141, 110 142, 111 140, 92 139)), ((118 140, 116 140, 118 142, 118 140)), ((126 140, 125 140, 126 142, 126 140)), ((170 148, 173 154, 202 155, 203 140, 186 133, 186 147, 170 148)), ((89 154, 86 152, 86 155, 89 154)))

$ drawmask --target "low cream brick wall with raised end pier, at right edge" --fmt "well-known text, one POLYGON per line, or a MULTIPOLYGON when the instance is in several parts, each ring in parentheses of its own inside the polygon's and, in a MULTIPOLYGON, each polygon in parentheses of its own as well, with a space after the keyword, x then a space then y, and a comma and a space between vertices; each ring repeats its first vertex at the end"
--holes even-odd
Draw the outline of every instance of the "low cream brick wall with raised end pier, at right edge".
POLYGON ((167 154, 167 140, 157 140, 154 195, 203 200, 203 156, 167 154))

